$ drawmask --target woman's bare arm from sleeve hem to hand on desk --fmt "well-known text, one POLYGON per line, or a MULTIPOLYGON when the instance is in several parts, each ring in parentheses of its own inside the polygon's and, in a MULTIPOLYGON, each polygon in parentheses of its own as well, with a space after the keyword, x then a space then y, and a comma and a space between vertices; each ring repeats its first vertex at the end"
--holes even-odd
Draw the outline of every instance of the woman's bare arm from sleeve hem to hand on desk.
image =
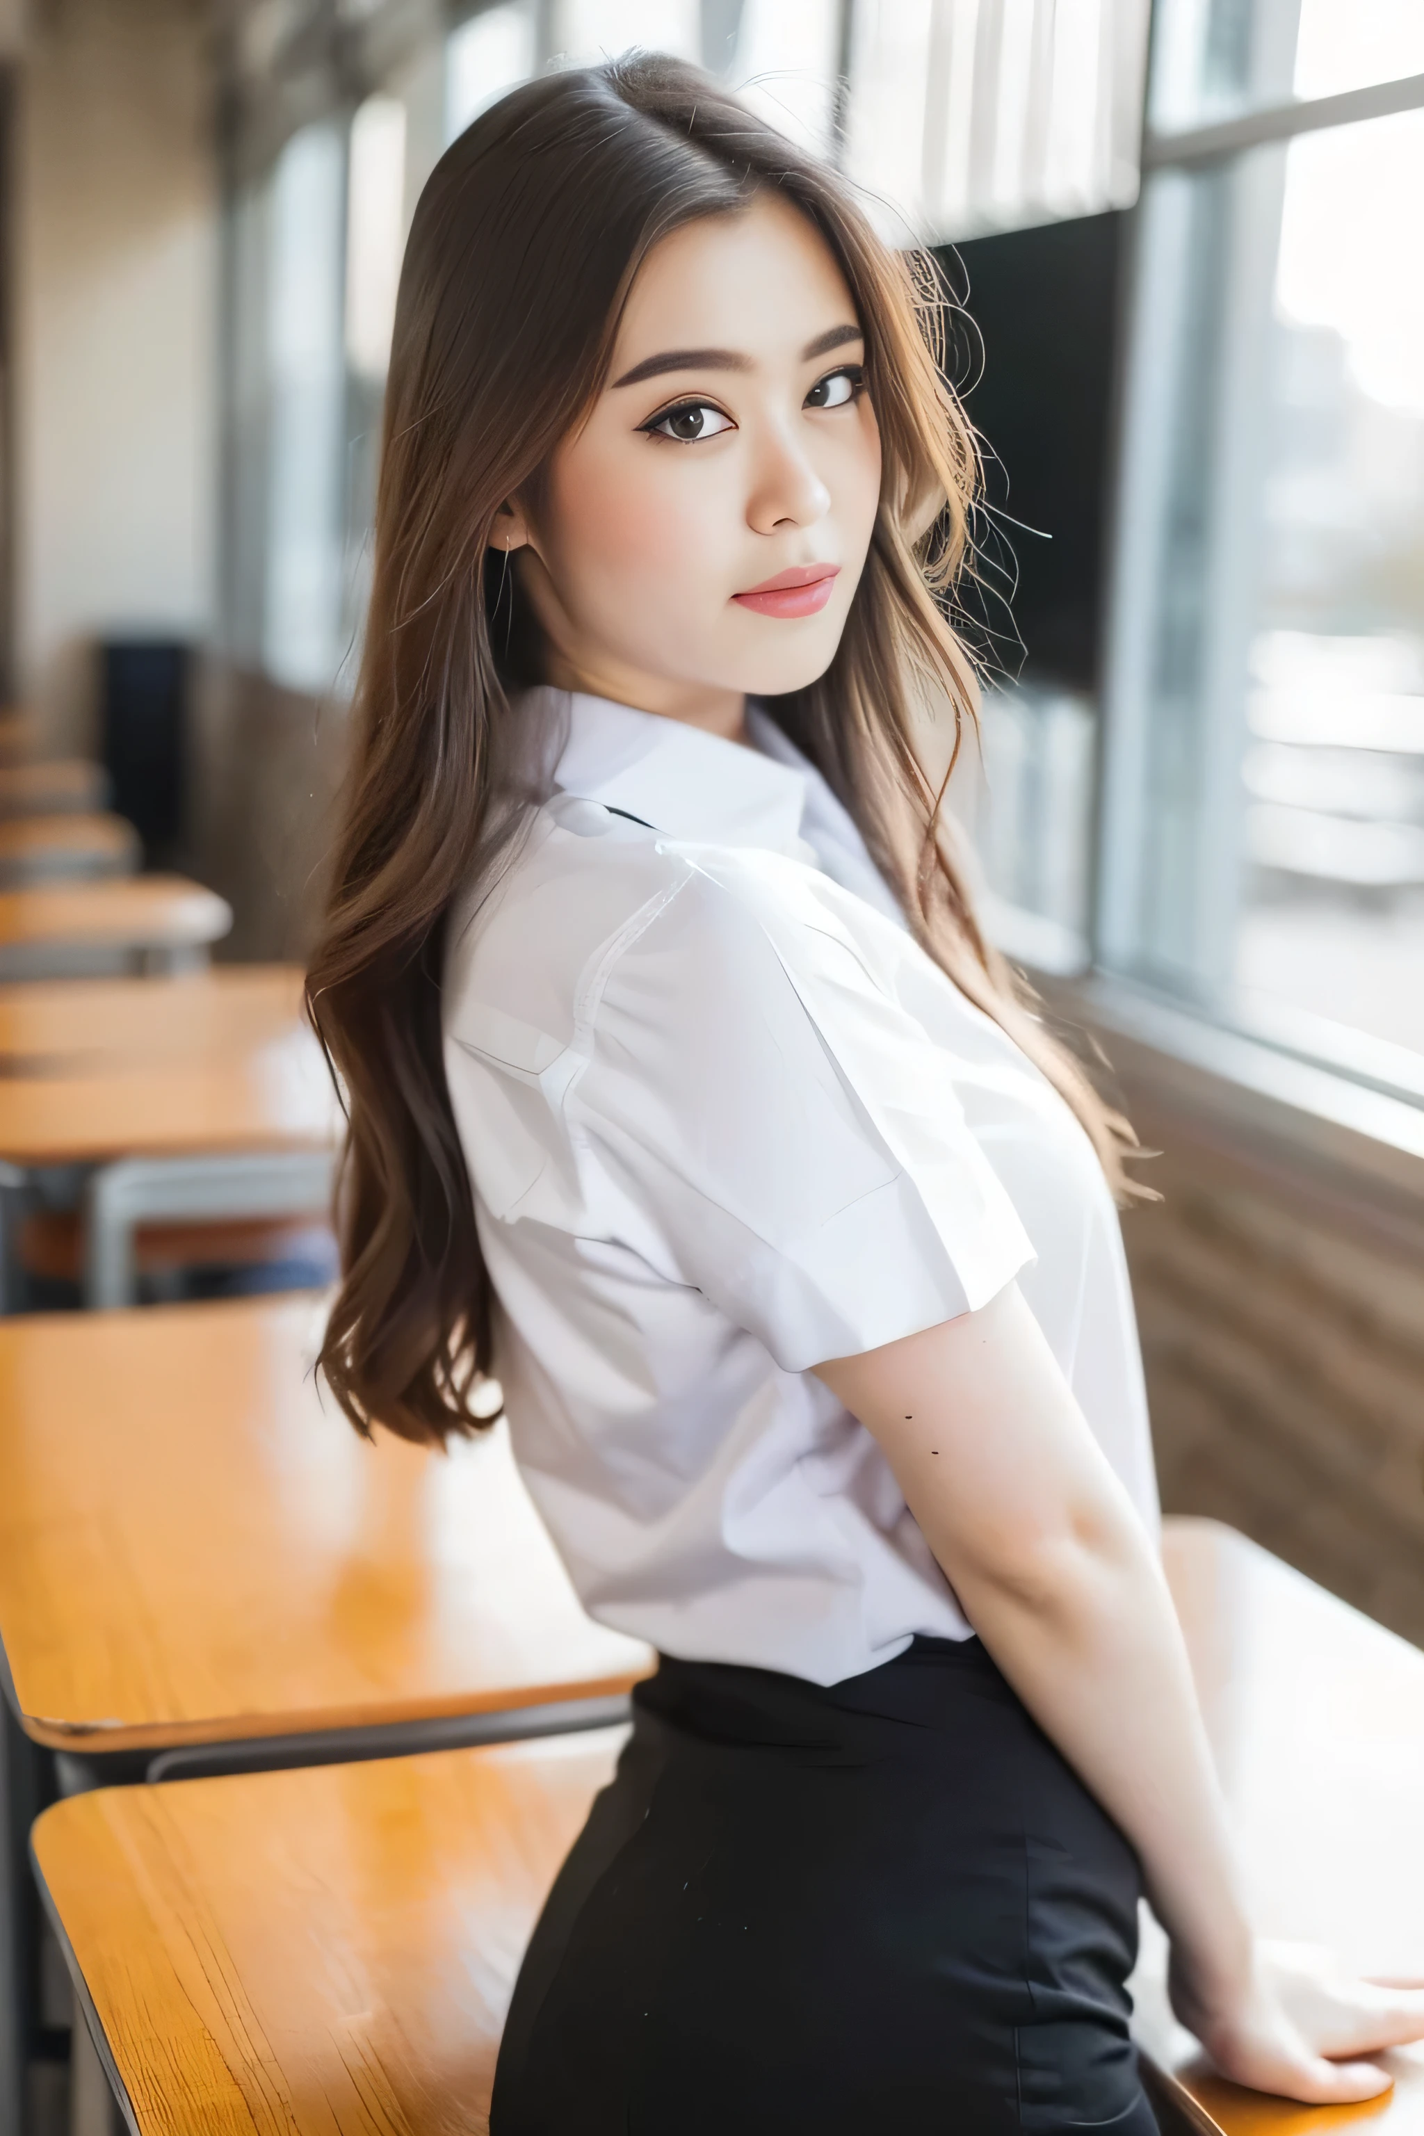
POLYGON ((818 1367, 880 1440, 969 1623, 1142 1860, 1183 2021, 1238 2083, 1386 2087, 1424 1993, 1275 1978, 1253 1944, 1172 1598, 1149 1536, 1010 1284, 991 1305, 818 1367))

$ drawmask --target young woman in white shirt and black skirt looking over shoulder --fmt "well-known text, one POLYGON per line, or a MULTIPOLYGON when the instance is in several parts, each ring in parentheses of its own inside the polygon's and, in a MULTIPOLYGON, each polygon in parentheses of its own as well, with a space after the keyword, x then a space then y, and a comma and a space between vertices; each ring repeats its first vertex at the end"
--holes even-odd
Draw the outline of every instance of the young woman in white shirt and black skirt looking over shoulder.
POLYGON ((325 1371, 482 1423, 658 1675, 515 1991, 495 2136, 1155 2127, 1144 1882, 1221 2068, 1364 2098, 1424 1995, 1251 1942, 1172 1606, 1127 1132, 984 946, 927 707, 974 449, 839 184, 638 60, 412 229, 312 1008, 325 1371))

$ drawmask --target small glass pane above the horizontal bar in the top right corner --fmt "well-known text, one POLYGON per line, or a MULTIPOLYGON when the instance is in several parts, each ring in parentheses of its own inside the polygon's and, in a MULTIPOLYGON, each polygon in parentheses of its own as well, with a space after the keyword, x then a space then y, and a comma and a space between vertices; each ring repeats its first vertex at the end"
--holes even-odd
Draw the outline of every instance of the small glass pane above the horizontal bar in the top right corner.
POLYGON ((1420 0, 1157 0, 1151 120, 1170 132, 1420 73, 1420 0))

